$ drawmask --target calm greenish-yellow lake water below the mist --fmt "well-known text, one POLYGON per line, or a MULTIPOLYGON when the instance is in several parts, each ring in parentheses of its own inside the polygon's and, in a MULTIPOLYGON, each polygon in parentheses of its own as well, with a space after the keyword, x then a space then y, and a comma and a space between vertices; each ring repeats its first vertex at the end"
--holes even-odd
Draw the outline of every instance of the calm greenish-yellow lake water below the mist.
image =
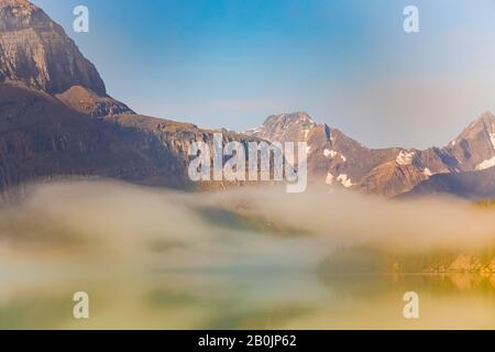
POLYGON ((0 275, 1 329, 494 329, 495 276, 152 271, 13 279, 0 275), (73 317, 89 294, 90 318, 73 317), (403 314, 419 295, 419 319, 403 314))

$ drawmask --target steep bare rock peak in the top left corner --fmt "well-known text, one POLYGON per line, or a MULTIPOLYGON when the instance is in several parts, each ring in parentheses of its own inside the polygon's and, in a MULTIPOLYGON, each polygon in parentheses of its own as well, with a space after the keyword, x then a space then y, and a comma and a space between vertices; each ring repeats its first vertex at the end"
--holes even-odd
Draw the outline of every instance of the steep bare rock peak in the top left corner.
POLYGON ((106 95, 103 80, 63 28, 26 0, 0 0, 0 82, 48 94, 73 86, 106 95))

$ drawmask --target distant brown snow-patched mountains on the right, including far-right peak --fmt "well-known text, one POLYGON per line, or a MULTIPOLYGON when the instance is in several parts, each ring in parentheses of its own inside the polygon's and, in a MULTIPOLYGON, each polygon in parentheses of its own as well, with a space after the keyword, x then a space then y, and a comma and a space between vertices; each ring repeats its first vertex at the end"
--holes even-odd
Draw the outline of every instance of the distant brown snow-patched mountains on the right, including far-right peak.
MULTIPOLYGON (((483 113, 446 147, 369 148, 307 113, 271 116, 246 132, 271 142, 307 142, 308 173, 314 183, 395 197, 436 175, 477 172, 495 165, 495 117, 483 113)), ((438 176, 438 178, 442 178, 438 176)), ((437 178, 436 178, 437 179, 437 178)))

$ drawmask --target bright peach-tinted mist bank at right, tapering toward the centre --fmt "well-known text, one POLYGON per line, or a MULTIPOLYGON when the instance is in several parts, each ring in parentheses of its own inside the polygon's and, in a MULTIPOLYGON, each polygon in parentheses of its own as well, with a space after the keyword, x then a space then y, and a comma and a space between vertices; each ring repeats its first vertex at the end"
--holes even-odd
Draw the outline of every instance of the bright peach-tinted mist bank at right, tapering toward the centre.
POLYGON ((391 200, 338 189, 294 195, 260 188, 216 197, 226 208, 249 205, 244 212, 250 216, 300 228, 331 239, 336 245, 422 252, 437 248, 477 250, 495 244, 495 208, 453 197, 391 200))

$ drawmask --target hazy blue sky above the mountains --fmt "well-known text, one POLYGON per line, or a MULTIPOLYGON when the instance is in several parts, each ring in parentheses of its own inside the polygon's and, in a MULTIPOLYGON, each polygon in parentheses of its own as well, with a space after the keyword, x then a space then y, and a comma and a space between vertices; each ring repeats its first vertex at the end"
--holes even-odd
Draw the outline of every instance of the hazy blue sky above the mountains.
POLYGON ((305 110, 369 146, 425 147, 495 111, 494 0, 33 2, 144 114, 246 130, 305 110), (72 30, 77 4, 90 33, 72 30))

